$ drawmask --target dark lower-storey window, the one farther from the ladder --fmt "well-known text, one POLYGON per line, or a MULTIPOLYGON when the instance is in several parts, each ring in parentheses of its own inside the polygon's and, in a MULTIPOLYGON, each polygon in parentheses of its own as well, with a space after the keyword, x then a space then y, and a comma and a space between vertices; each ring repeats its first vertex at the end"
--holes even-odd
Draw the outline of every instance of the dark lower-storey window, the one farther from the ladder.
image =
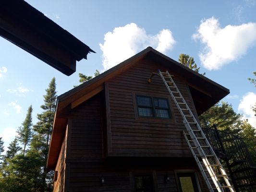
POLYGON ((135 176, 135 192, 153 192, 152 176, 135 176))

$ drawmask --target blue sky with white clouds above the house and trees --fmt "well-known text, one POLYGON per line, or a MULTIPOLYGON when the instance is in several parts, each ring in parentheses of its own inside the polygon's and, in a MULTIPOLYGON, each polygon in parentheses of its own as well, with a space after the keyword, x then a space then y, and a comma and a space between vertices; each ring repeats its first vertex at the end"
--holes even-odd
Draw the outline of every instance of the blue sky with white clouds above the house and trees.
POLYGON ((65 76, 0 38, 0 137, 13 140, 29 105, 33 122, 45 89, 56 78, 57 94, 79 84, 78 73, 103 72, 147 46, 174 60, 194 57, 200 72, 230 89, 223 100, 253 126, 256 71, 256 0, 26 0, 97 53, 77 62, 65 76))

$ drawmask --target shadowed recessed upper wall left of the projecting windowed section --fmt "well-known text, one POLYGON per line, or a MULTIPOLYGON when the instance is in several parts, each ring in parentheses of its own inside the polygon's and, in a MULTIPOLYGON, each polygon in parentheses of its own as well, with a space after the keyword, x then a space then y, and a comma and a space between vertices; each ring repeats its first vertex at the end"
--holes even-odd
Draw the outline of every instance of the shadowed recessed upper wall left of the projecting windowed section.
POLYGON ((102 157, 102 94, 98 94, 74 108, 72 119, 70 158, 102 157))

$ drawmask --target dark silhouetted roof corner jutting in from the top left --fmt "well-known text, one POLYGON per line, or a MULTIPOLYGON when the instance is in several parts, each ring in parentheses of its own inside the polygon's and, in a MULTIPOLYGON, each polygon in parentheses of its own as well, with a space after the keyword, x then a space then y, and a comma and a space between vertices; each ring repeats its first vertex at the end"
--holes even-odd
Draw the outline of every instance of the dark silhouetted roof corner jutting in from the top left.
POLYGON ((0 2, 0 36, 66 75, 94 52, 24 0, 0 2))

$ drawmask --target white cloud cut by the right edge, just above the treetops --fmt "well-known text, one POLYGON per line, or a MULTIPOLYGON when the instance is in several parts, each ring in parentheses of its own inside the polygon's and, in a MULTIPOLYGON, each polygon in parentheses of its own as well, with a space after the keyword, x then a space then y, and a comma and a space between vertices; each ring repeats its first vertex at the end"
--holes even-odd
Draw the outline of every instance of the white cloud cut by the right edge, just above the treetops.
POLYGON ((246 93, 240 100, 238 111, 244 114, 244 119, 256 128, 256 116, 252 107, 256 104, 256 93, 246 93))

